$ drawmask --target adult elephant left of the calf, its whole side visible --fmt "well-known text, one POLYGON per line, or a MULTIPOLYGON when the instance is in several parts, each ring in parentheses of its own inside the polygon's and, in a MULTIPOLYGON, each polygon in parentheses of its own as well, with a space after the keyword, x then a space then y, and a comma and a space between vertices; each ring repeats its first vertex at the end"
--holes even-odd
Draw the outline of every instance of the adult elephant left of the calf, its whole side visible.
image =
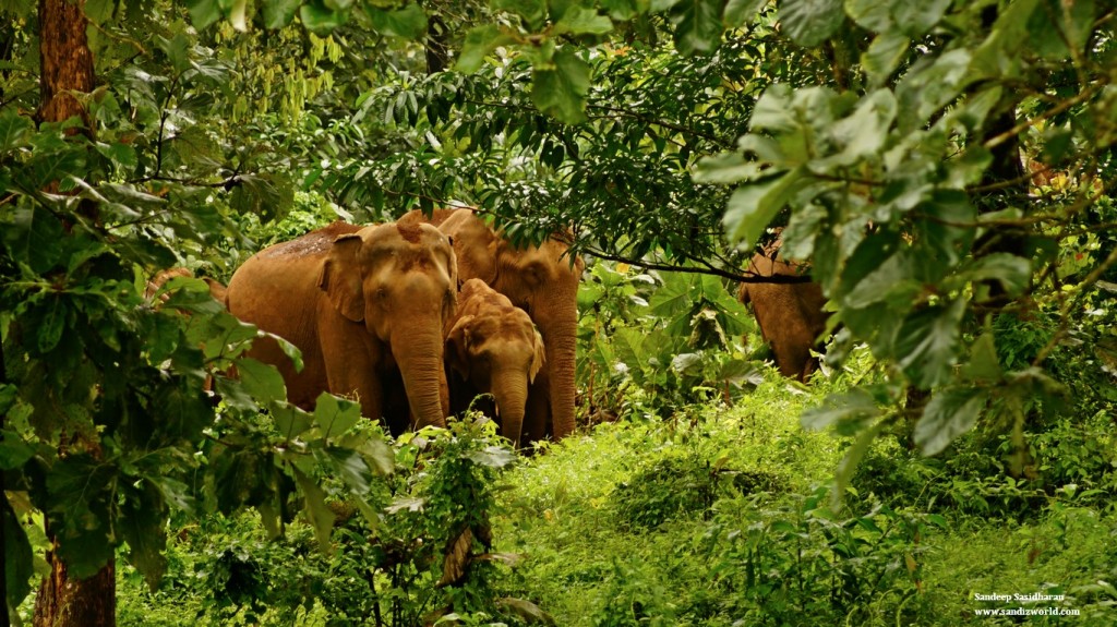
POLYGON ((429 224, 335 222, 249 258, 226 299, 238 318, 302 350, 302 372, 274 340, 250 353, 279 368, 292 403, 352 396, 398 432, 446 424, 442 326, 457 281, 450 241, 429 224))

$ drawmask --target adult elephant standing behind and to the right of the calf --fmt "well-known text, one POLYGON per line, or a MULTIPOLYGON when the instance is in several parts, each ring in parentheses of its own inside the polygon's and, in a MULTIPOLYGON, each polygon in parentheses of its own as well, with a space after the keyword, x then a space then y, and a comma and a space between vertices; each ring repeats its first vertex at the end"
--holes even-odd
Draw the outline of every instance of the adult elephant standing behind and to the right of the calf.
POLYGON ((400 219, 424 221, 454 241, 461 280, 480 279, 508 297, 527 311, 543 336, 546 363, 528 393, 525 438, 562 440, 573 433, 577 284, 585 263, 555 238, 517 247, 469 209, 437 210, 429 218, 412 211, 400 219))

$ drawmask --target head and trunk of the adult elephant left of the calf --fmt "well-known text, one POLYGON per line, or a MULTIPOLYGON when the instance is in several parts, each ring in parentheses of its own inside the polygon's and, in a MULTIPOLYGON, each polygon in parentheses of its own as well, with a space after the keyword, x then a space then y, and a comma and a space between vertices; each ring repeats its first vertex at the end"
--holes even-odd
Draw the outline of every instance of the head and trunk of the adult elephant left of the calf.
MULTIPOLYGON (((417 427, 446 424, 449 397, 442 368, 442 326, 457 306, 457 281, 450 242, 429 224, 380 224, 338 235, 322 261, 318 288, 341 317, 363 325, 378 345, 380 359, 373 367, 399 369, 417 427)), ((353 348, 345 346, 353 330, 345 325, 321 328, 319 335, 336 335, 323 338, 323 346, 334 346, 344 355, 353 348)), ((332 360, 344 361, 342 355, 326 357, 327 372, 332 360)), ((342 363, 337 368, 355 365, 342 363)), ((361 376, 331 374, 331 388, 335 378, 361 376)), ((383 390, 384 396, 390 398, 390 392, 383 390)))

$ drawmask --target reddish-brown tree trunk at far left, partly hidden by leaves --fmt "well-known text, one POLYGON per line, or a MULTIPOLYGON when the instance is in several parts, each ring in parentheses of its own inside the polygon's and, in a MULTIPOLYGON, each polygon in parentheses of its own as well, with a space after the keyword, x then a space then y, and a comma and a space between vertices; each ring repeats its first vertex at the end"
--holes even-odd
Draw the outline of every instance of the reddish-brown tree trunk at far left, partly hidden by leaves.
MULTIPOLYGON (((78 116, 93 137, 88 112, 75 93, 93 91, 93 52, 85 29, 85 0, 39 0, 40 123, 78 116)), ((57 185, 57 183, 55 183, 57 185)), ((95 211, 95 208, 84 208, 95 211)), ((97 450, 95 443, 88 448, 97 450)), ((49 525, 48 538, 52 538, 49 525)), ((57 543, 57 540, 54 540, 57 543)), ((116 624, 116 569, 112 561, 88 579, 69 577, 55 551, 47 552, 50 575, 35 599, 36 627, 102 627, 116 624)))

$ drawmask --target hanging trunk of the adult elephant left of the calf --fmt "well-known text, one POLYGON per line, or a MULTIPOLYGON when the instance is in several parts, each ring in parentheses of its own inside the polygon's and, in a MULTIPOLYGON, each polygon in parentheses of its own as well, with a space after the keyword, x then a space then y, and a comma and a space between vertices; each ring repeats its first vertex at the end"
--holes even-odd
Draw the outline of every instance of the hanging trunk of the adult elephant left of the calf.
POLYGON ((449 413, 449 392, 442 368, 442 327, 438 322, 409 325, 392 336, 392 354, 403 377, 414 428, 446 426, 449 413), (431 330, 416 331, 427 327, 431 330))

